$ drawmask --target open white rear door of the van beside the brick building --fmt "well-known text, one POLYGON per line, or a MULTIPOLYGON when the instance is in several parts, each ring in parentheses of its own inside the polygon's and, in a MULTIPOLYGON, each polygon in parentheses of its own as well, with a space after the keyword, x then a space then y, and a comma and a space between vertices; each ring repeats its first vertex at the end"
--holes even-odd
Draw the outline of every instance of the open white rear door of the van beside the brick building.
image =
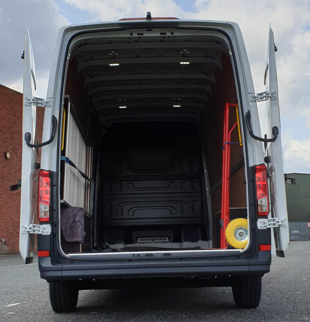
POLYGON ((22 190, 21 190, 21 221, 19 249, 25 264, 32 263, 34 234, 29 233, 29 226, 33 223, 37 192, 34 184, 37 181, 38 169, 37 152, 35 148, 27 146, 25 133, 31 133, 31 143, 35 140, 36 129, 36 107, 32 104, 32 97, 36 90, 36 77, 34 69, 34 59, 29 32, 25 37, 24 50, 24 86, 23 86, 23 115, 22 115, 22 190))

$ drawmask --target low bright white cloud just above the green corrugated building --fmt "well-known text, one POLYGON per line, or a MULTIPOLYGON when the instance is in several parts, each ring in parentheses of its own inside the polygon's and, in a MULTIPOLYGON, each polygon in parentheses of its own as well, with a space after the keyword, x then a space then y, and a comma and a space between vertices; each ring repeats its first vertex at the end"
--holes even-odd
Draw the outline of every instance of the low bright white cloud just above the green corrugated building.
POLYGON ((284 172, 310 173, 310 138, 289 141, 284 152, 284 172))

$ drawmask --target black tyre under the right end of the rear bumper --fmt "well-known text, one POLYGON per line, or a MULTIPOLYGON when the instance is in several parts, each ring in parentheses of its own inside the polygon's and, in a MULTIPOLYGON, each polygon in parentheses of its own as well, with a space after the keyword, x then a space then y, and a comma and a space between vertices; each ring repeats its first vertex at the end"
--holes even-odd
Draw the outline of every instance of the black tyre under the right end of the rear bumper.
POLYGON ((261 300, 261 276, 235 276, 232 290, 237 308, 256 308, 261 300))

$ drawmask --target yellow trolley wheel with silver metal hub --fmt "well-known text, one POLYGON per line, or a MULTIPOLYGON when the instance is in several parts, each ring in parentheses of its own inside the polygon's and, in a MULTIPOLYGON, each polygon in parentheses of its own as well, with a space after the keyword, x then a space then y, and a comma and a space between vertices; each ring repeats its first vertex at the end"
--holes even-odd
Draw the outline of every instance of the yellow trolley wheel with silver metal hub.
POLYGON ((225 237, 230 246, 243 249, 248 242, 248 221, 244 218, 232 220, 226 227, 225 237))

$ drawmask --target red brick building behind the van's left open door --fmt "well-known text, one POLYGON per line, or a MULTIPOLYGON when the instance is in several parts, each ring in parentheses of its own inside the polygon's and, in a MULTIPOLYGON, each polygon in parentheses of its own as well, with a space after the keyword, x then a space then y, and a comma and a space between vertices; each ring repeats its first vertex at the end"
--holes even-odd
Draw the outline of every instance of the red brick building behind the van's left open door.
MULTIPOLYGON (((22 178, 22 93, 0 85, 0 101, 0 255, 4 255, 19 252, 21 190, 9 188, 22 178)), ((43 117, 44 109, 37 108, 40 142, 43 117)))

